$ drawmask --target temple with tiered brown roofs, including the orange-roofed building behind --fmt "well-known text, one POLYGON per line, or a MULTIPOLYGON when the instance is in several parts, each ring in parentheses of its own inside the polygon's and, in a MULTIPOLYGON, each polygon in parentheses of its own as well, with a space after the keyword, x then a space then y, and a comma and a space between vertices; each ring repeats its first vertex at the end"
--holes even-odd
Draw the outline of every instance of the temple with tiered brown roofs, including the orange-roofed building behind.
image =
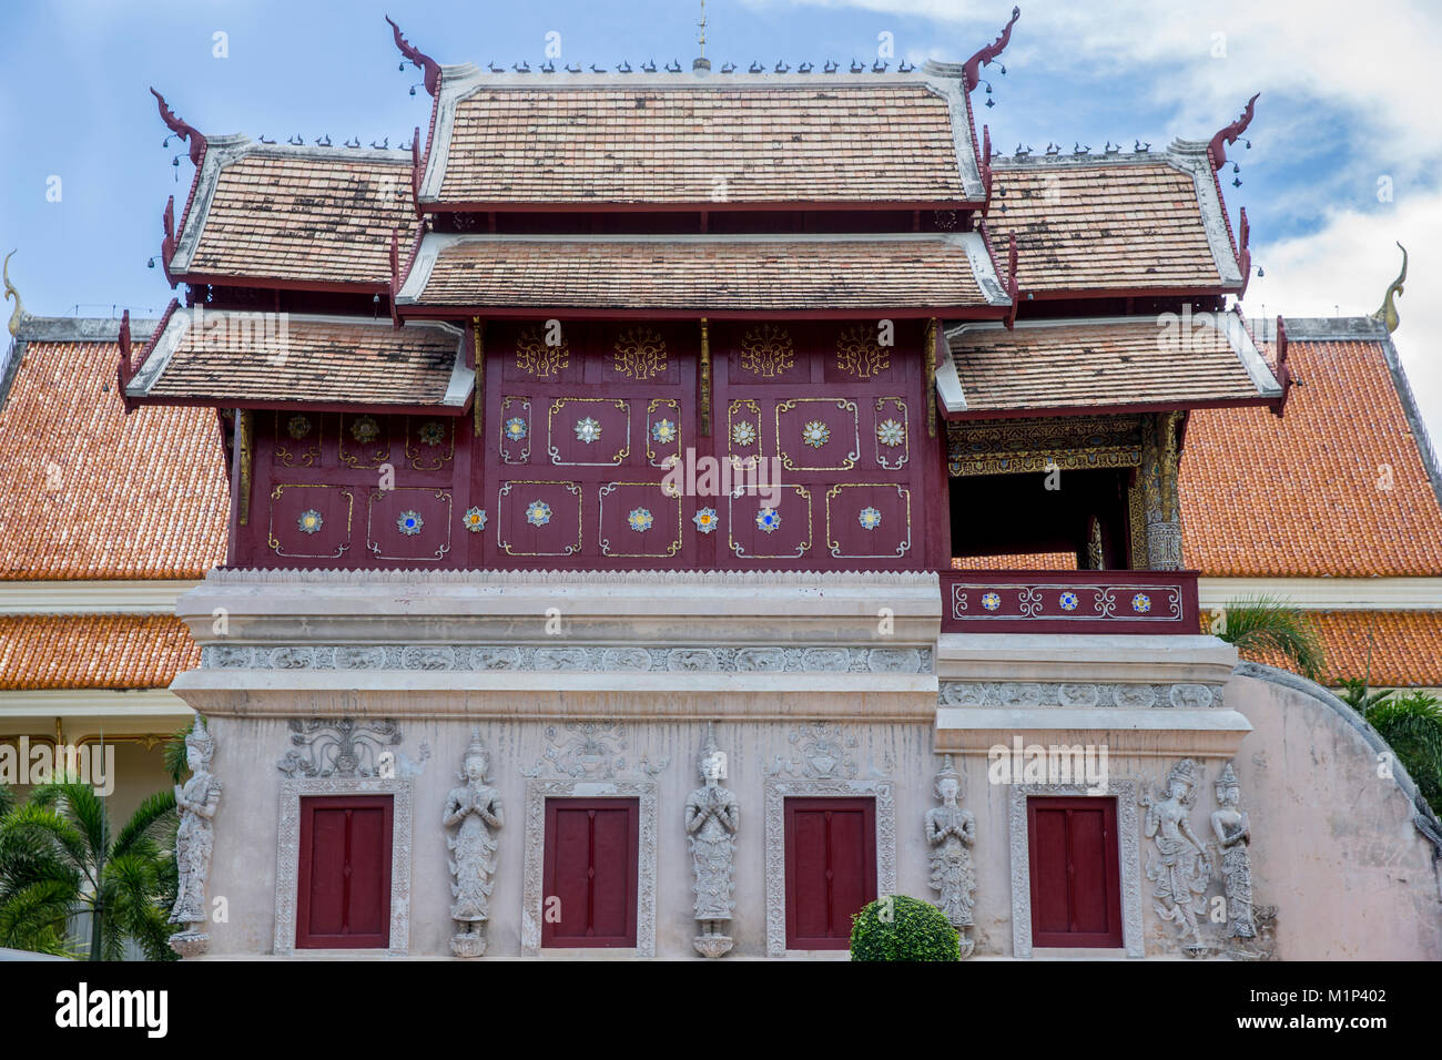
POLYGON ((128 740, 138 800, 203 715, 180 952, 845 956, 910 894, 972 958, 1442 958, 1406 770, 1210 632, 1291 596, 1328 682, 1442 685, 1396 320, 1243 313, 1256 97, 995 154, 1015 22, 884 72, 395 27, 405 150, 157 94, 179 297, 16 301, 0 740, 128 740))

